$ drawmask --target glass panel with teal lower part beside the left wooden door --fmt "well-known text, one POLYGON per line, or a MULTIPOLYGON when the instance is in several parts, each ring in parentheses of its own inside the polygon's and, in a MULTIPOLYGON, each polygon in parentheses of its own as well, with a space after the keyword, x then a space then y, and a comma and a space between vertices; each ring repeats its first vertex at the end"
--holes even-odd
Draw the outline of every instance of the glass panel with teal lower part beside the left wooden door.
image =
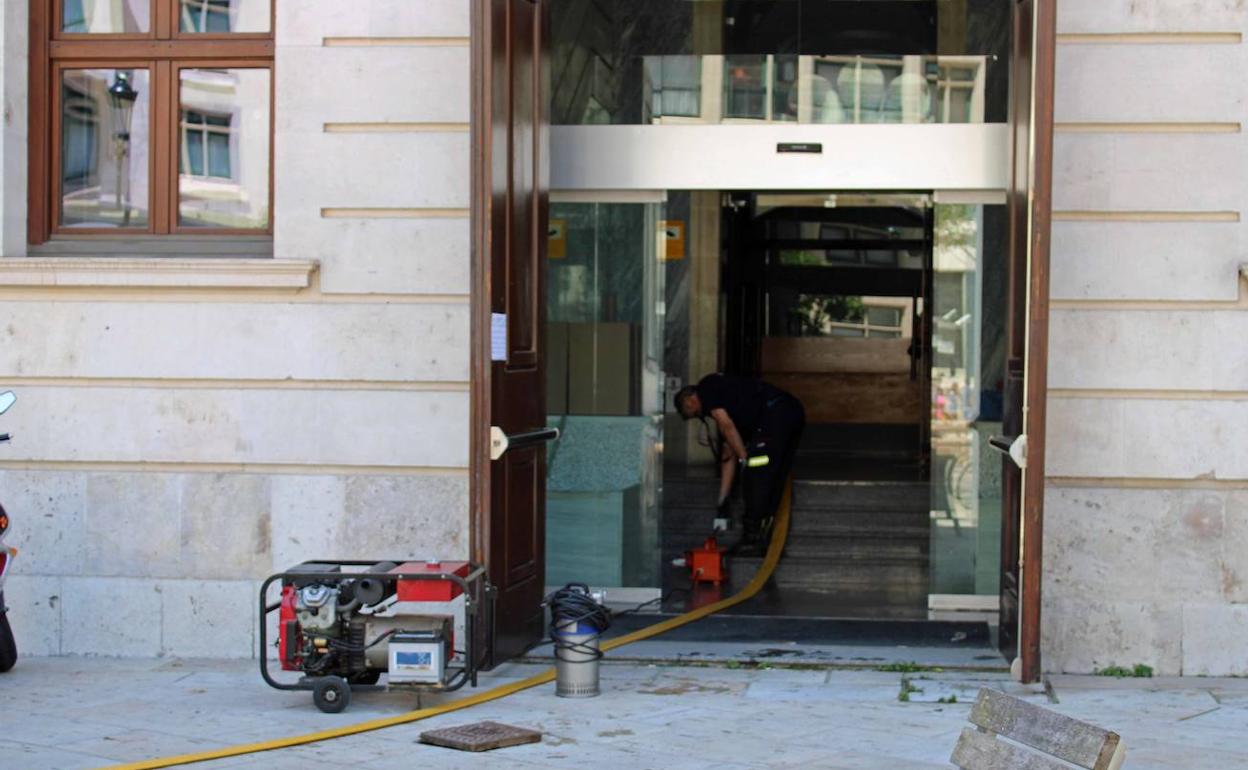
POLYGON ((547 583, 659 585, 664 205, 554 202, 547 583))

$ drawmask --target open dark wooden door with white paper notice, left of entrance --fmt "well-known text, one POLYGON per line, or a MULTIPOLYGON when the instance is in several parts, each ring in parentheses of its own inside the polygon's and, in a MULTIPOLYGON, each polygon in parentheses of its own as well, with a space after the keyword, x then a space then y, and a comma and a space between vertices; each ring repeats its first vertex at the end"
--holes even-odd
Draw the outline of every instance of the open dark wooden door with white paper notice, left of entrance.
POLYGON ((472 553, 495 589, 489 665, 543 634, 547 17, 545 0, 473 0, 472 553), (509 448, 492 452, 492 427, 509 448))

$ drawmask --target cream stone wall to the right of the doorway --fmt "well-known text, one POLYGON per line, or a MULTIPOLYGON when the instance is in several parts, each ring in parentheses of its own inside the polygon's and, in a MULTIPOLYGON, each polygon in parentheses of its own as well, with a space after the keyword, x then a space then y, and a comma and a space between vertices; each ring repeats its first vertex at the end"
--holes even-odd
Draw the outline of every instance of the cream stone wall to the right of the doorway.
POLYGON ((1047 670, 1248 674, 1246 32, 1058 2, 1047 670))

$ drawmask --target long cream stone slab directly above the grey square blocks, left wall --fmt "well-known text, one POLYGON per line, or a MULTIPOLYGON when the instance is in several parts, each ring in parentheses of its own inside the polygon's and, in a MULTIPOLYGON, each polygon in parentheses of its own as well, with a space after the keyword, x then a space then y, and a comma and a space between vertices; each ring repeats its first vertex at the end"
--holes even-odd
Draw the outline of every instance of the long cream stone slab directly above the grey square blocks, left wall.
MULTIPOLYGON (((468 465, 461 391, 30 387, 15 461, 468 465), (107 419, 81 421, 84 403, 107 419)), ((10 424, 6 424, 10 429, 10 424)), ((90 489, 89 489, 90 492, 90 489)))

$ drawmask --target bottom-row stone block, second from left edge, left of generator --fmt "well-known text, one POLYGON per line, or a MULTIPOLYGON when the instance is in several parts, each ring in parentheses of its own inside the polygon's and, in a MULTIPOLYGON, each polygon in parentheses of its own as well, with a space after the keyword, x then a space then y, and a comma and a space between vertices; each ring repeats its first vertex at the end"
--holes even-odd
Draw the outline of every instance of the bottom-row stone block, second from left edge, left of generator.
POLYGON ((156 658, 163 649, 161 590, 151 579, 64 578, 61 653, 156 658))

